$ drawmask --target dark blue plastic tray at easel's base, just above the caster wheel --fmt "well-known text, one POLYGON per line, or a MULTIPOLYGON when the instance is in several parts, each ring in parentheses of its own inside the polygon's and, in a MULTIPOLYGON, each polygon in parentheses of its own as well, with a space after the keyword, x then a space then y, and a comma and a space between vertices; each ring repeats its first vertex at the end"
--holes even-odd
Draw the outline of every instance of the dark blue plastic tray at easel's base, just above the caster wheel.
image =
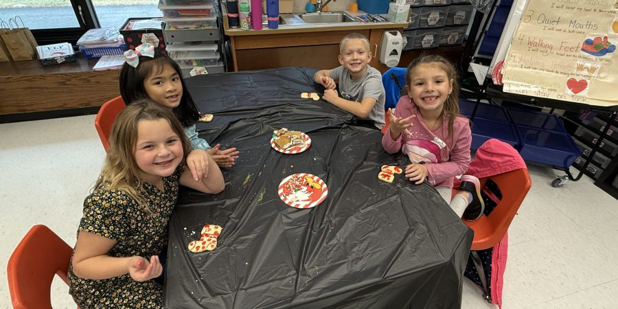
POLYGON ((571 135, 529 126, 517 126, 521 139, 519 154, 524 161, 532 161, 567 169, 582 155, 571 135))

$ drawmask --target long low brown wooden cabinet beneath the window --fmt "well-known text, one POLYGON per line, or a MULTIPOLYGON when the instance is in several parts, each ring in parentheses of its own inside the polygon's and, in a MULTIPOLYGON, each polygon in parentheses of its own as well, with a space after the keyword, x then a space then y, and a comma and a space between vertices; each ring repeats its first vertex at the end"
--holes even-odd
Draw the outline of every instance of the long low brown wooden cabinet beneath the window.
POLYGON ((119 70, 92 71, 97 60, 43 67, 38 60, 0 62, 0 122, 96 113, 119 95, 119 70))

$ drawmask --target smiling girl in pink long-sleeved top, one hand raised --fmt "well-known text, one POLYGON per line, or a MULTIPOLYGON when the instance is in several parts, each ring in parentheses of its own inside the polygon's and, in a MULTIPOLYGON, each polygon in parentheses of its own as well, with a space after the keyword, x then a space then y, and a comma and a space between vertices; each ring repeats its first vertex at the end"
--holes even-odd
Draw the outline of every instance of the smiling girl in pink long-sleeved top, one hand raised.
POLYGON ((472 142, 468 119, 459 113, 455 68, 442 56, 416 58, 406 71, 406 91, 395 113, 388 111, 382 146, 409 157, 405 175, 410 181, 427 180, 458 216, 477 220, 485 207, 479 179, 461 176, 459 192, 450 198, 453 179, 468 170, 472 142))

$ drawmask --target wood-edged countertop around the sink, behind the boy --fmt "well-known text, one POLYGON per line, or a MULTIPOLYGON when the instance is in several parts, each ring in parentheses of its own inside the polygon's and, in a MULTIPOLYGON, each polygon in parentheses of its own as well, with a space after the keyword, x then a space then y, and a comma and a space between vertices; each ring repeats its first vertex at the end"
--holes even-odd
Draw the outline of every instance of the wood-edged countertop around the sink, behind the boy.
MULTIPOLYGON (((352 13, 350 11, 343 11, 350 16, 356 16, 361 14, 367 14, 362 11, 352 13)), ((325 31, 339 31, 339 30, 361 30, 361 29, 393 29, 407 27, 408 23, 361 23, 360 21, 349 21, 344 23, 306 23, 300 17, 299 13, 284 13, 279 14, 285 23, 279 25, 277 29, 268 29, 268 26, 264 26, 262 30, 242 30, 240 28, 229 28, 227 23, 227 11, 225 6, 222 6, 223 27, 225 34, 228 36, 253 36, 260 34, 286 34, 286 33, 301 33, 301 32, 325 32, 325 31)), ((380 14, 386 16, 387 14, 380 14)))

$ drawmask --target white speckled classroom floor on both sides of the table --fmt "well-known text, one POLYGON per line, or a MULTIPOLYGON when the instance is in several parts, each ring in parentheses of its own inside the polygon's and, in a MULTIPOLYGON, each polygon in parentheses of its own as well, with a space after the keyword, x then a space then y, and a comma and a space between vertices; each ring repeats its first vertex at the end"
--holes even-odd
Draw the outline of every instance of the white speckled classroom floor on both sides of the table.
MULTIPOLYGON (((73 245, 84 197, 105 152, 94 115, 0 124, 2 277, 16 244, 43 224, 73 245)), ((242 153, 241 153, 242 155, 242 153)), ((509 231, 504 308, 618 308, 618 201, 584 176, 553 188, 559 171, 530 166, 532 188, 509 231)), ((54 308, 76 308, 54 280, 54 308)), ((10 308, 0 280, 0 308, 10 308)), ((464 278, 462 308, 496 308, 464 278)))

